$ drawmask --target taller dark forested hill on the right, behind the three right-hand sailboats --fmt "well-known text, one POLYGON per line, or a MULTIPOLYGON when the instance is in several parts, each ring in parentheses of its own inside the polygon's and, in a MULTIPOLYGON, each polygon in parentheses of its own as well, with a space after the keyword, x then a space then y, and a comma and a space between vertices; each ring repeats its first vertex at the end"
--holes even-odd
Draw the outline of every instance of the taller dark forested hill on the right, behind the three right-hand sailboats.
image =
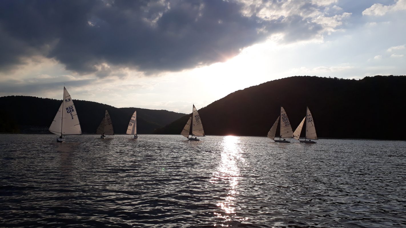
MULTIPOLYGON (((266 136, 281 105, 293 130, 308 106, 319 137, 406 140, 405 89, 406 76, 295 76, 233 92, 200 109, 199 115, 207 135, 266 136)), ((180 134, 188 118, 155 133, 180 134)))

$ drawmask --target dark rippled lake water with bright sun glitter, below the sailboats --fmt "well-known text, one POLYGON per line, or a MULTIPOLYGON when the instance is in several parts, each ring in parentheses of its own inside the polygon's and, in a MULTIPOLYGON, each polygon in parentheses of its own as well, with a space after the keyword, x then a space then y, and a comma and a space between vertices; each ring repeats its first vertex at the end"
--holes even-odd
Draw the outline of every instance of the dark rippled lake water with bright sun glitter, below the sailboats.
POLYGON ((406 142, 0 134, 2 227, 406 227, 406 142))

